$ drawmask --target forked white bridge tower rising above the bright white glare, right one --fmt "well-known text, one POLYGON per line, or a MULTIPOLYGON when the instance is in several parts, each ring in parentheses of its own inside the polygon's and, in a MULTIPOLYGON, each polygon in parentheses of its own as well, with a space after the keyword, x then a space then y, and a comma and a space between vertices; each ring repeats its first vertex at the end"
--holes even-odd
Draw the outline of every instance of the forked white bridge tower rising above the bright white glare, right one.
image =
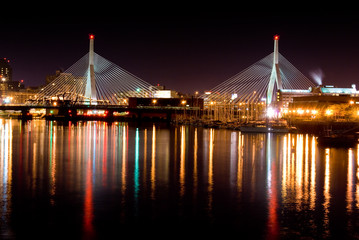
POLYGON ((282 79, 280 77, 279 61, 278 61, 278 57, 279 57, 278 41, 279 41, 279 35, 275 35, 272 73, 269 79, 268 90, 267 90, 267 105, 271 105, 273 100, 274 83, 277 84, 277 90, 283 88, 282 79))

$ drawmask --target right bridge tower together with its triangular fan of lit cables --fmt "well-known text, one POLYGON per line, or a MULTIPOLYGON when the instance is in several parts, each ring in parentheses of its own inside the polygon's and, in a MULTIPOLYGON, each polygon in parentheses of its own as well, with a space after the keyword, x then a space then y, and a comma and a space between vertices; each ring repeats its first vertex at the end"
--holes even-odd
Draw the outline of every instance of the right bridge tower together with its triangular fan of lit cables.
POLYGON ((311 80, 279 53, 278 41, 279 36, 275 35, 273 53, 202 95, 205 104, 273 105, 278 90, 315 87, 311 80))

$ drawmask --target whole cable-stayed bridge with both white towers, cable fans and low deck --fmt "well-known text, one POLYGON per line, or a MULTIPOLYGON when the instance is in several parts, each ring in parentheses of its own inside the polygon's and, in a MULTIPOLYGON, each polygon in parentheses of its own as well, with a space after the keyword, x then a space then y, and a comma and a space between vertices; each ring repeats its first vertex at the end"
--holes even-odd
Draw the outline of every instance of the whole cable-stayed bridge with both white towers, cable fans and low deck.
MULTIPOLYGON (((265 107, 274 106, 277 90, 315 87, 312 81, 279 53, 278 41, 279 36, 274 36, 273 53, 215 86, 209 91, 210 94, 200 96, 204 100, 205 111, 207 110, 208 115, 211 115, 211 119, 216 115, 213 106, 217 109, 217 115, 224 116, 224 119, 232 118, 227 118, 228 113, 231 116, 236 115, 237 119, 240 119, 242 109, 240 106, 243 104, 247 105, 245 119, 257 119, 263 113, 263 107, 258 108, 258 104, 265 107), (251 106, 249 106, 250 104, 251 106), (257 108, 254 104, 257 105, 257 108)), ((150 83, 95 53, 94 35, 90 35, 89 52, 42 88, 35 96, 35 104, 34 101, 30 102, 27 108, 21 107, 21 111, 23 115, 27 114, 28 110, 35 105, 36 108, 46 106, 49 109, 56 107, 56 101, 62 101, 71 107, 71 109, 64 110, 57 106, 60 107, 59 112, 65 113, 65 115, 72 115, 74 111, 82 111, 84 108, 101 109, 102 111, 108 108, 112 114, 115 111, 124 111, 125 108, 134 108, 129 106, 129 98, 154 98, 156 90, 156 87, 150 83), (52 105, 52 101, 55 101, 54 105, 52 105)), ((173 112, 180 114, 176 112, 179 108, 182 109, 182 113, 185 109, 191 110, 191 107, 187 108, 189 105, 186 104, 186 101, 177 103, 177 106, 172 109, 168 108, 168 105, 156 106, 156 102, 156 99, 147 101, 149 105, 146 110, 143 110, 143 105, 141 105, 142 110, 132 109, 131 111, 138 116, 141 115, 141 112, 148 112, 151 109, 153 112, 159 113, 162 108, 163 112, 170 116, 173 112)), ((197 111, 198 100, 196 102, 195 110, 197 111)), ((9 106, 3 108, 8 110, 9 106)), ((0 110, 2 110, 1 107, 0 110)), ((206 114, 205 111, 202 114, 206 114)), ((196 112, 196 116, 202 114, 196 112)), ((219 117, 217 119, 219 120, 219 117)))

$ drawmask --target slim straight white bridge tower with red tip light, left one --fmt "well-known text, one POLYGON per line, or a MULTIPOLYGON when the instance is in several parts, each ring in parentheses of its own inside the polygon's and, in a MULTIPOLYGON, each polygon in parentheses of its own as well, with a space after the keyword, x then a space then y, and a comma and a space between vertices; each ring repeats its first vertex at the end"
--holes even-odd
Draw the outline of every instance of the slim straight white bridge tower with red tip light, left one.
POLYGON ((89 67, 87 73, 87 80, 86 80, 86 90, 85 90, 85 97, 90 100, 90 104, 92 101, 97 100, 96 96, 96 80, 95 80, 95 66, 94 66, 94 40, 95 35, 90 34, 90 50, 89 50, 89 67))

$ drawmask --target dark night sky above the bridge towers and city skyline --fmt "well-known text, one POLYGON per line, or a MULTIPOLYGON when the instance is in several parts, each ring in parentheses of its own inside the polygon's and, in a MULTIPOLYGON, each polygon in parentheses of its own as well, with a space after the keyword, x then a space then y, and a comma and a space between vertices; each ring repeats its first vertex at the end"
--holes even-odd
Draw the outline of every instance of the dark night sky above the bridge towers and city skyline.
POLYGON ((44 84, 95 52, 151 84, 184 93, 209 90, 273 52, 324 84, 359 85, 359 17, 343 12, 175 11, 94 15, 9 17, 2 22, 0 57, 11 60, 13 79, 44 84))

